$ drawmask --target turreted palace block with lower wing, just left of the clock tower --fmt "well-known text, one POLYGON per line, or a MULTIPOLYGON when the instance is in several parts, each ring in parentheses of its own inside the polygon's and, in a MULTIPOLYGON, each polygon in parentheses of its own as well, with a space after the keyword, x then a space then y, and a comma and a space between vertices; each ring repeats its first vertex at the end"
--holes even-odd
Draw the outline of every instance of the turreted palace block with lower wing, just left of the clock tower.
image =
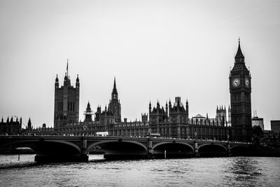
POLYGON ((230 127, 224 118, 223 120, 189 119, 188 100, 186 106, 183 106, 180 97, 175 98, 173 105, 169 100, 169 104, 165 104, 165 109, 159 102, 152 109, 150 103, 149 126, 151 132, 159 133, 161 137, 222 140, 228 139, 230 134, 230 127))

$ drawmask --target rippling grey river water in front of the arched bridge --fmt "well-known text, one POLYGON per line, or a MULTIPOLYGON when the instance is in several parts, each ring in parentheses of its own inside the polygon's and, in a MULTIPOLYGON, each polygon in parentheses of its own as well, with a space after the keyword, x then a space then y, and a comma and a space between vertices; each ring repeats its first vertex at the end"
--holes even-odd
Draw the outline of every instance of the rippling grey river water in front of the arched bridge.
POLYGON ((280 158, 103 160, 38 164, 0 155, 0 186, 279 186, 280 158))

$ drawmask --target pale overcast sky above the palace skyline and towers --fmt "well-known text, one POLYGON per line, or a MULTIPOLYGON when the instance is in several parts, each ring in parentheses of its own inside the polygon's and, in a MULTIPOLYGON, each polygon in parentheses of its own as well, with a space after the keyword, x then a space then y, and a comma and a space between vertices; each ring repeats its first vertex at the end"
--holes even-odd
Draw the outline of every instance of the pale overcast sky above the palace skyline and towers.
MULTIPOLYGON (((241 39, 252 115, 280 119, 280 1, 0 0, 0 115, 53 126, 55 77, 80 78, 80 120, 104 109, 116 83, 122 118, 181 96, 190 117, 230 104, 241 39)), ((0 117, 1 117, 0 116, 0 117)), ((25 127, 25 125, 23 125, 25 127)))

